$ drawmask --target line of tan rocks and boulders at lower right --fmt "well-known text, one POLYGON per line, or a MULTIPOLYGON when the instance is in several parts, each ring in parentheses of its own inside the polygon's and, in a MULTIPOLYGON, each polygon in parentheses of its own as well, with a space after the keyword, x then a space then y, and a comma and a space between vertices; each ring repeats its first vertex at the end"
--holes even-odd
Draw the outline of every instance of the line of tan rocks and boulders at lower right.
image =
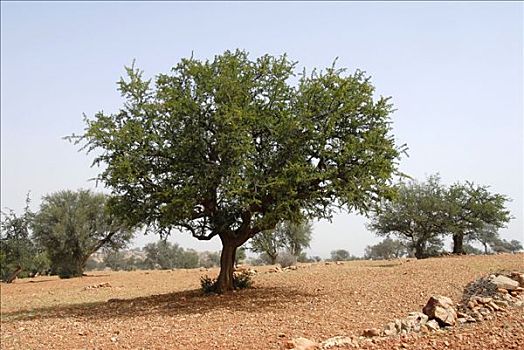
POLYGON ((364 330, 360 337, 338 336, 317 343, 297 338, 284 344, 286 349, 329 349, 336 346, 359 347, 362 342, 375 342, 379 337, 398 336, 411 332, 429 333, 442 327, 490 320, 508 307, 524 306, 524 273, 498 273, 479 278, 465 288, 457 305, 445 296, 430 297, 422 312, 410 312, 406 318, 395 319, 382 329, 364 330), (371 338, 371 339, 370 339, 371 338))

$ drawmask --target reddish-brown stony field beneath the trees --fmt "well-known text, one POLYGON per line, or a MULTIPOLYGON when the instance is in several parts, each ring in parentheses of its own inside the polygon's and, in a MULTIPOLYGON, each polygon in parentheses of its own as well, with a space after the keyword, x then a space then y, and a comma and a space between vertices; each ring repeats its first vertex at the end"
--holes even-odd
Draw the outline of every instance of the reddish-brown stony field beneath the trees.
MULTIPOLYGON (((421 311, 431 295, 459 302, 478 277, 524 272, 524 254, 255 269, 254 288, 223 296, 199 291, 200 276, 217 269, 104 271, 2 284, 1 348, 282 349, 298 337, 357 337, 421 311)), ((524 349, 524 309, 508 310, 480 323, 359 347, 524 349)))

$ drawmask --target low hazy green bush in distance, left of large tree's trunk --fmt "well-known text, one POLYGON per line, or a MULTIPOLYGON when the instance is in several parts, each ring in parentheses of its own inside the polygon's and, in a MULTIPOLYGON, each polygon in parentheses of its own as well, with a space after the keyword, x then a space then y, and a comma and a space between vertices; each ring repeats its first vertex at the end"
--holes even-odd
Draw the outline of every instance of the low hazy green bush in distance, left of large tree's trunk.
POLYGON ((198 267, 198 253, 194 250, 180 247, 166 240, 149 243, 144 247, 145 266, 149 269, 191 269, 198 267))

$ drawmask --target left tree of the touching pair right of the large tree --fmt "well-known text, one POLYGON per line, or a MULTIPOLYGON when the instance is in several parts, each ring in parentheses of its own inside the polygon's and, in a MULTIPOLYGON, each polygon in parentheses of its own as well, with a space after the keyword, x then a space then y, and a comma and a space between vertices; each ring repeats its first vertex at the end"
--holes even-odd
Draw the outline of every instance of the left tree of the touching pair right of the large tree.
POLYGON ((447 205, 438 175, 422 183, 401 183, 397 196, 381 203, 368 227, 379 236, 398 236, 415 257, 425 258, 443 247, 449 226, 447 205))

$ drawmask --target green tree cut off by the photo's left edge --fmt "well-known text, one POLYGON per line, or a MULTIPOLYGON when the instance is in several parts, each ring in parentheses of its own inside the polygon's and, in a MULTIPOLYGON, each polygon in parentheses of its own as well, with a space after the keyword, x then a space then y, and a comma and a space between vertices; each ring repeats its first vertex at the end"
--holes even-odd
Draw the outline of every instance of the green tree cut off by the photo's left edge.
POLYGON ((29 204, 28 194, 22 215, 16 215, 10 209, 1 213, 0 278, 8 283, 16 277, 35 275, 49 268, 44 249, 32 240, 34 213, 29 204))

